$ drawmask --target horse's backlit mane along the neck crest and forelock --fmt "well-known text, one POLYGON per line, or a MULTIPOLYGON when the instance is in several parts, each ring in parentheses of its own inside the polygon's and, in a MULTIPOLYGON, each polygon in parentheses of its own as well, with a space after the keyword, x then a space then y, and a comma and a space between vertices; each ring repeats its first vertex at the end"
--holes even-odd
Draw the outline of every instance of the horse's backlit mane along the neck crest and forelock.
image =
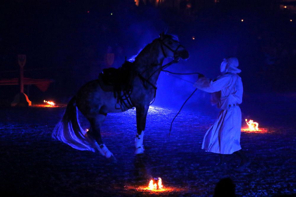
MULTIPOLYGON (((169 35, 166 34, 164 35, 164 39, 165 38, 170 38, 173 40, 176 40, 179 42, 179 39, 176 35, 169 35)), ((155 58, 157 58, 157 54, 152 54, 150 53, 153 49, 155 49, 155 45, 156 43, 159 41, 159 38, 154 39, 151 43, 147 44, 143 49, 141 49, 138 54, 132 56, 130 59, 128 59, 128 61, 130 62, 135 62, 138 61, 140 58, 141 59, 147 59, 149 58, 150 60, 154 60, 155 58)))

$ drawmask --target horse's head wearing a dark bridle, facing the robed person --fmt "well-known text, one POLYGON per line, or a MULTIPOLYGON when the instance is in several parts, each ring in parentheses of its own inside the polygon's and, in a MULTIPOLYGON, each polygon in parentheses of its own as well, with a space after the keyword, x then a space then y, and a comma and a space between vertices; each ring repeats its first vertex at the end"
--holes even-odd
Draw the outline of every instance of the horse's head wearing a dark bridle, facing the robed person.
POLYGON ((172 35, 167 35, 162 32, 159 35, 160 46, 165 57, 171 58, 189 58, 189 53, 186 51, 185 47, 179 43, 177 37, 172 35))

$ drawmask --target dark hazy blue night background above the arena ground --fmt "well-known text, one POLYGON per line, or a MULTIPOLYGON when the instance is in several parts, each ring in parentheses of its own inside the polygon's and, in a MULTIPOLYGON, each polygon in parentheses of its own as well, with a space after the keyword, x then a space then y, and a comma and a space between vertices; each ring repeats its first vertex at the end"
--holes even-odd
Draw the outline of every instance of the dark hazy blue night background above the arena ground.
MULTIPOLYGON (((192 1, 190 9, 182 1, 164 1, 158 6, 139 3, 1 1, 0 78, 18 77, 15 56, 26 54, 25 77, 55 80, 44 93, 31 86, 30 100, 66 103, 107 66, 106 53, 115 54, 112 66, 119 67, 125 57, 137 54, 165 31, 177 35, 190 54, 186 62, 171 66, 173 71, 195 71, 214 78, 221 60, 236 56, 245 93, 295 91, 293 2, 287 9, 280 1, 263 0, 200 0, 192 1)), ((196 76, 189 79, 194 82, 196 76)), ((191 84, 172 76, 161 75, 158 85, 159 104, 167 103, 163 97, 168 93, 162 87, 172 88, 168 92, 178 99, 191 92, 191 84)), ((0 88, 5 92, 0 98, 4 105, 18 92, 17 86, 0 88)))

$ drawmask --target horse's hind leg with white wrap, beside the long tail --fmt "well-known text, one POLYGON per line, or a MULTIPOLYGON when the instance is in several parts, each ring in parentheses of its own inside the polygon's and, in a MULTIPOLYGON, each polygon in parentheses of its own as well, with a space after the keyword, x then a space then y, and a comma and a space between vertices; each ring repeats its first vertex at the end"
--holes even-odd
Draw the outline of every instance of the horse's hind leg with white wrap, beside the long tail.
POLYGON ((107 146, 103 143, 101 136, 101 125, 105 120, 106 115, 99 114, 96 118, 88 118, 91 123, 91 129, 88 131, 88 135, 95 139, 95 146, 98 151, 106 158, 114 157, 107 146), (89 133, 90 132, 90 133, 89 133))

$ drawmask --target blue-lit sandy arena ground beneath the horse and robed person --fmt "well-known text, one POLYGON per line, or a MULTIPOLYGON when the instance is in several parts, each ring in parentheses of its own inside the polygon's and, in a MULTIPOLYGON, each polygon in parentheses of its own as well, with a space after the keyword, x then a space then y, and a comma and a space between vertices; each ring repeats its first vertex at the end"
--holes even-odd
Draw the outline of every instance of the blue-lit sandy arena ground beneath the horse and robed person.
MULTIPOLYGON (((227 157, 228 170, 215 170, 218 156, 201 149, 217 111, 184 109, 168 138, 178 110, 152 106, 144 136, 146 151, 139 156, 134 155, 135 110, 108 114, 102 136, 118 160, 112 163, 98 152, 79 151, 52 139, 64 107, 1 108, 1 196, 213 196, 215 184, 225 177, 234 181, 237 196, 293 196, 295 98, 249 103, 248 108, 242 106, 243 117, 253 115, 267 132, 242 132, 241 145, 252 159, 244 172, 234 170, 239 163, 235 155, 227 157), (141 190, 151 177, 161 177, 166 190, 141 190)), ((86 119, 80 120, 87 128, 86 119)))

